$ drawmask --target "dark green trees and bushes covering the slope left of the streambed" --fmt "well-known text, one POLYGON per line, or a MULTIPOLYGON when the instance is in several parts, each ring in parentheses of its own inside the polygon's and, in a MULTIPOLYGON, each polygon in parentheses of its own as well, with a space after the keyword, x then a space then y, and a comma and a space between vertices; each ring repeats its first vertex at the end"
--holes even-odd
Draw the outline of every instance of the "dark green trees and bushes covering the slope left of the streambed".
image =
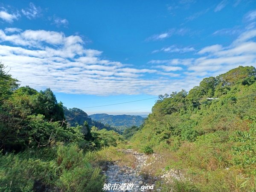
POLYGON ((19 87, 4 69, 0 64, 0 191, 101 191, 105 177, 90 151, 122 137, 86 121, 67 123, 50 89, 19 87))

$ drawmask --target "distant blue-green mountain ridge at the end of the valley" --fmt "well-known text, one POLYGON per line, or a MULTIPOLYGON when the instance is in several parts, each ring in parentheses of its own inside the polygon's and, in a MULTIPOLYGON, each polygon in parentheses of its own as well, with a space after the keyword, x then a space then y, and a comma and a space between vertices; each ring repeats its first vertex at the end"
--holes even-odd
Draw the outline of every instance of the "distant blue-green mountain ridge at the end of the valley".
POLYGON ((112 127, 131 127, 143 124, 144 118, 138 115, 108 115, 106 113, 97 113, 90 115, 94 121, 102 122, 112 127))

